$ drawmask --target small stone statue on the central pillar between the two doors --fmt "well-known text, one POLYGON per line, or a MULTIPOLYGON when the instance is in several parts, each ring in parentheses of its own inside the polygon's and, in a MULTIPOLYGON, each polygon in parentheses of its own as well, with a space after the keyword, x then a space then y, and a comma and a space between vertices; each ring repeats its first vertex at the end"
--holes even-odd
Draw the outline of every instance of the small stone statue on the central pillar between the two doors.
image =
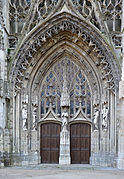
POLYGON ((67 130, 67 125, 68 125, 68 112, 66 110, 64 110, 62 112, 62 131, 66 131, 67 130))

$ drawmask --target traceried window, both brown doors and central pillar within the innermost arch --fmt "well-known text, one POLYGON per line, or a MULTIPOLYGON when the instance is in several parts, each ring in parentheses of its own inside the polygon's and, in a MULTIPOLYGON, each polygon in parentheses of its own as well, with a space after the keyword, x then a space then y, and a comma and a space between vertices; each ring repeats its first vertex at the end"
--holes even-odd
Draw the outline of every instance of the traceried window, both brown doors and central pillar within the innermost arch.
POLYGON ((59 124, 41 125, 41 162, 89 163, 91 130, 83 122, 91 117, 91 92, 83 70, 69 59, 61 60, 47 73, 41 89, 41 123, 61 124, 61 133, 59 124), (69 127, 74 121, 77 124, 69 127))

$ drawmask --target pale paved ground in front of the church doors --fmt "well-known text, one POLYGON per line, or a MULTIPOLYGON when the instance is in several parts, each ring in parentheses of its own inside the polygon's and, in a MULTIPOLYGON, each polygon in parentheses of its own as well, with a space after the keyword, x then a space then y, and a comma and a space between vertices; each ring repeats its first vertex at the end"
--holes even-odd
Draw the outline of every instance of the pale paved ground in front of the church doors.
POLYGON ((0 169, 0 179, 124 179, 124 170, 84 165, 0 169))

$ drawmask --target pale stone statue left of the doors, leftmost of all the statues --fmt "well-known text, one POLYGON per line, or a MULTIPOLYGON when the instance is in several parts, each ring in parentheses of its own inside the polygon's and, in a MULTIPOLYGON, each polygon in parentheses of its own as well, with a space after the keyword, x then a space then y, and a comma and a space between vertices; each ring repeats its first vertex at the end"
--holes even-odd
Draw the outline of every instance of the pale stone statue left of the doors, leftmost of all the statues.
POLYGON ((28 112, 27 112, 27 104, 23 105, 22 108, 22 129, 27 130, 27 117, 28 117, 28 112))

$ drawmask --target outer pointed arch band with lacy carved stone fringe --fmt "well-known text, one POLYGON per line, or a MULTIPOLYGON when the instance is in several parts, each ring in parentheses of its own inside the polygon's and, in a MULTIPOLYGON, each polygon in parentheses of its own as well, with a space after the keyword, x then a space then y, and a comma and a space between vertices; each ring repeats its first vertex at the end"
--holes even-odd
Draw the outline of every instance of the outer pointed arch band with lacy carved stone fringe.
MULTIPOLYGON (((104 76, 104 78, 108 79, 107 82, 110 83, 110 86, 113 89, 115 88, 115 86, 118 87, 120 76, 119 72, 116 71, 118 69, 116 67, 117 64, 113 60, 114 57, 112 56, 111 52, 108 51, 108 49, 106 48, 105 42, 103 42, 103 40, 101 41, 101 37, 96 34, 95 31, 92 31, 90 27, 86 27, 86 23, 79 24, 75 17, 70 22, 69 14, 68 18, 66 15, 66 19, 64 17, 64 14, 65 13, 61 15, 63 16, 63 20, 58 21, 58 23, 54 19, 51 19, 54 25, 51 27, 47 27, 49 30, 43 32, 41 27, 41 30, 38 30, 38 33, 36 31, 32 35, 32 37, 30 37, 31 39, 27 39, 26 43, 21 47, 20 53, 16 57, 17 60, 16 62, 14 62, 15 65, 13 64, 12 68, 12 76, 14 75, 13 79, 15 79, 14 81, 16 89, 18 90, 21 88, 22 79, 24 78, 23 76, 25 76, 24 72, 27 67, 29 67, 29 65, 32 65, 33 56, 37 53, 39 48, 43 46, 46 41, 48 42, 53 36, 64 31, 70 31, 72 34, 75 34, 78 40, 80 39, 82 42, 85 42, 87 46, 91 48, 89 49, 88 53, 90 53, 90 51, 93 51, 95 53, 98 59, 96 61, 96 65, 99 67, 99 64, 101 64, 103 66, 103 70, 107 71, 107 73, 105 72, 106 76, 104 76)), ((53 40, 56 43, 57 39, 53 38, 53 40)), ((76 42, 76 38, 74 39, 74 42, 76 42)), ((42 55, 45 53, 45 51, 47 51, 47 48, 42 49, 42 55)))

